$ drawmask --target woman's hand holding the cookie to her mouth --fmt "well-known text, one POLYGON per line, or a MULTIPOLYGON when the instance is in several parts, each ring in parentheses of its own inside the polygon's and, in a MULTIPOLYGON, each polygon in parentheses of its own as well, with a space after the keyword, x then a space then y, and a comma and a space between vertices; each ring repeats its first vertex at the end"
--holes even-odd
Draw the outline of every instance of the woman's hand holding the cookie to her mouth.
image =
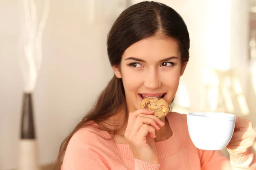
POLYGON ((153 116, 153 111, 139 109, 129 113, 125 138, 131 147, 135 159, 151 164, 159 164, 158 153, 154 138, 155 131, 164 123, 153 116))

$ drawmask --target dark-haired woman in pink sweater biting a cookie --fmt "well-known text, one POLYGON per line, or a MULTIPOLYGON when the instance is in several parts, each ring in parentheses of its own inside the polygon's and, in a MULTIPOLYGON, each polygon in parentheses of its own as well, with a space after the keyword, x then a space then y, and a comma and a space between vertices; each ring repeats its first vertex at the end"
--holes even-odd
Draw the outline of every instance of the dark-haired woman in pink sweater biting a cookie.
POLYGON ((61 144, 62 170, 256 170, 250 121, 237 118, 229 160, 192 144, 186 115, 160 120, 140 109, 145 96, 171 104, 189 61, 189 33, 175 10, 156 2, 127 8, 109 32, 108 57, 115 75, 61 144))

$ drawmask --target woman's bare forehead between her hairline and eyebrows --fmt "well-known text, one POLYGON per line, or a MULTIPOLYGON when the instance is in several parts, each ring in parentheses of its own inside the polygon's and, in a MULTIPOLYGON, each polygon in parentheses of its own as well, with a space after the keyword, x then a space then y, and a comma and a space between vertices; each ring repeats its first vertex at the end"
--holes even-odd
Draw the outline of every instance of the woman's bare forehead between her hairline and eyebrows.
POLYGON ((180 50, 177 41, 167 38, 150 37, 135 42, 128 47, 122 58, 139 57, 145 60, 158 60, 172 56, 180 58, 180 50))

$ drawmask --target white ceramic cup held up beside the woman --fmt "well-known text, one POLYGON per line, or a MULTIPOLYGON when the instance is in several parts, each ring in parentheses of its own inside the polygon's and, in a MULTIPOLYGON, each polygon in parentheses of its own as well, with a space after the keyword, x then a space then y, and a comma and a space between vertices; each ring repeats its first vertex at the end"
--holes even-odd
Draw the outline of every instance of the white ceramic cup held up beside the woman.
POLYGON ((222 150, 230 142, 236 116, 229 113, 201 112, 187 114, 189 136, 198 149, 222 150))

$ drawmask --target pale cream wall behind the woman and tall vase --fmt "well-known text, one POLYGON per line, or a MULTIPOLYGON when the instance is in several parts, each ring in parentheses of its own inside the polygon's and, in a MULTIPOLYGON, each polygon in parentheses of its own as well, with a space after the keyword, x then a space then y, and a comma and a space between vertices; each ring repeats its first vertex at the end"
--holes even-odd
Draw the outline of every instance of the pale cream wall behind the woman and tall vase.
MULTIPOLYGON (((61 141, 90 108, 113 75, 106 53, 106 35, 111 23, 89 23, 90 10, 86 2, 51 1, 43 37, 43 63, 34 95, 41 164, 55 160, 61 141)), ((111 2, 105 4, 105 8, 98 9, 114 8, 114 0, 111 2)), ((211 66, 209 64, 212 63, 215 68, 220 63, 225 63, 227 68, 239 68, 240 63, 246 66, 246 0, 226 0, 226 3, 222 3, 222 0, 160 2, 178 11, 188 26, 191 58, 181 83, 187 89, 191 110, 198 111, 201 66, 211 66), (211 10, 216 4, 216 8, 211 10), (244 12, 236 14, 234 9, 244 12), (236 17, 229 20, 229 16, 234 14, 236 17), (222 27, 225 27, 224 32, 221 32, 222 27), (218 34, 221 37, 215 36, 218 34)), ((17 165, 23 89, 17 63, 17 57, 23 55, 18 41, 23 18, 21 10, 17 0, 0 1, 0 21, 4 23, 0 26, 0 169, 3 170, 13 169, 17 165)), ((115 11, 112 11, 108 21, 116 16, 115 11)), ((96 18, 107 16, 105 12, 108 11, 98 10, 96 18)), ((246 87, 247 78, 242 78, 245 79, 243 87, 246 87)), ((253 119, 253 114, 249 118, 253 119)))

